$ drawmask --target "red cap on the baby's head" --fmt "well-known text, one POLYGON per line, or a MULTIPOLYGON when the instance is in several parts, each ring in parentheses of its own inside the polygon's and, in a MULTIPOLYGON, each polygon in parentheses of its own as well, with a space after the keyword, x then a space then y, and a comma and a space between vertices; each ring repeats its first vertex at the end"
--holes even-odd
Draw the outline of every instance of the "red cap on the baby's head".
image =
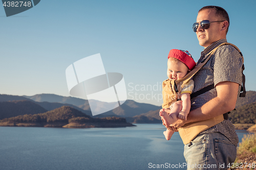
POLYGON ((192 58, 191 54, 188 53, 188 51, 173 49, 173 50, 170 50, 169 52, 168 58, 170 57, 180 60, 190 70, 196 67, 196 62, 192 58))

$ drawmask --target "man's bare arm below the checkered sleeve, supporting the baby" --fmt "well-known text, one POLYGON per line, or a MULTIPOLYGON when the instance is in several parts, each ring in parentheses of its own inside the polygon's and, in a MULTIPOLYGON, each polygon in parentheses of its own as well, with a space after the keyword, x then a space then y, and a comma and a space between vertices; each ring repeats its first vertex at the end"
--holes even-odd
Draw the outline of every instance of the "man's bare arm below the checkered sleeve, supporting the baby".
POLYGON ((187 123, 206 120, 233 110, 237 102, 238 88, 238 83, 228 81, 218 83, 216 85, 218 93, 216 98, 205 103, 202 107, 190 111, 187 120, 179 119, 171 126, 179 128, 187 123))

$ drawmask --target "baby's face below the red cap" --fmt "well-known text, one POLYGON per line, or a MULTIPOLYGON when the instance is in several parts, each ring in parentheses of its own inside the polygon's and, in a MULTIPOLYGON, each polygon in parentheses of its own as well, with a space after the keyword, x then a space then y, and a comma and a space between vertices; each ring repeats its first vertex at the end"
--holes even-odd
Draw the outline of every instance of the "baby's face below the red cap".
POLYGON ((181 61, 176 63, 175 61, 168 60, 167 66, 167 76, 169 79, 179 80, 186 76, 188 71, 187 66, 181 61))

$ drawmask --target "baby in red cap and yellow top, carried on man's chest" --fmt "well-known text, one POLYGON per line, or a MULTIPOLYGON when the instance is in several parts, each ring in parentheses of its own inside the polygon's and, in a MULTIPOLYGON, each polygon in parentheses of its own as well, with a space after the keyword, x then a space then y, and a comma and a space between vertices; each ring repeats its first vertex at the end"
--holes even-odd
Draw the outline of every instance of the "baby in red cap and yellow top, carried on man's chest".
MULTIPOLYGON (((168 79, 163 81, 163 109, 159 112, 163 123, 167 126, 172 125, 179 118, 187 119, 187 114, 190 111, 190 94, 194 88, 194 81, 189 80, 182 88, 180 94, 178 94, 177 101, 175 101, 170 92, 172 91, 170 81, 172 79, 179 80, 183 78, 190 70, 195 68, 195 66, 196 62, 188 51, 170 50, 167 62, 168 79)), ((174 132, 167 129, 163 134, 166 140, 170 140, 174 132)))

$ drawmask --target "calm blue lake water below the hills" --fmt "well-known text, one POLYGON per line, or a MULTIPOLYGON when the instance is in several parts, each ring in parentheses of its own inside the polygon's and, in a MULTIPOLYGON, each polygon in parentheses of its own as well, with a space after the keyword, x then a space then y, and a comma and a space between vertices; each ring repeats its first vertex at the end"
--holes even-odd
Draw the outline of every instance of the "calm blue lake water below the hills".
MULTIPOLYGON (((149 168, 149 163, 185 163, 178 133, 167 141, 161 124, 136 125, 91 129, 0 127, 0 169, 130 170, 155 169, 149 168)), ((238 132, 240 140, 244 133, 238 132)))

